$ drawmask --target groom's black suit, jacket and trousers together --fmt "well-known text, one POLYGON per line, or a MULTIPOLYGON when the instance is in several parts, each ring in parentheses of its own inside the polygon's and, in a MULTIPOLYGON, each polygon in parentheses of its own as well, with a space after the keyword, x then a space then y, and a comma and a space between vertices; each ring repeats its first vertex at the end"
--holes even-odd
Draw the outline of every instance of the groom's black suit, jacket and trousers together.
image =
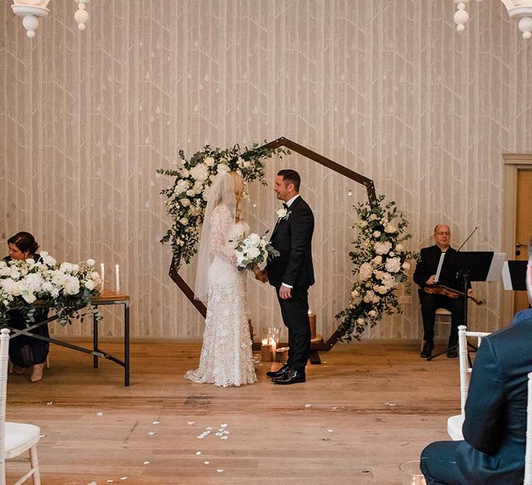
POLYGON ((287 217, 278 220, 275 226, 271 243, 281 254, 266 266, 269 284, 276 289, 283 322, 288 328, 287 365, 303 373, 310 352, 308 288, 314 284, 313 232, 314 215, 300 195, 288 207, 287 217), (291 298, 279 298, 281 283, 292 286, 291 298))

